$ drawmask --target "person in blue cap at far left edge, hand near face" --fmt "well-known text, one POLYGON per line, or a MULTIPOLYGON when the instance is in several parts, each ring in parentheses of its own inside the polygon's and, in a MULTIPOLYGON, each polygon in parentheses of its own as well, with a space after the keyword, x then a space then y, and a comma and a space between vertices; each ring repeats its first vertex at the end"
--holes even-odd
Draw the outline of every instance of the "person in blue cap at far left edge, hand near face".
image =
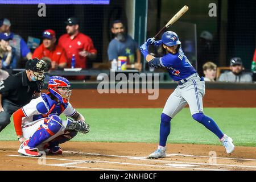
POLYGON ((0 33, 0 60, 3 69, 16 68, 15 48, 9 43, 11 39, 13 39, 13 34, 0 33))

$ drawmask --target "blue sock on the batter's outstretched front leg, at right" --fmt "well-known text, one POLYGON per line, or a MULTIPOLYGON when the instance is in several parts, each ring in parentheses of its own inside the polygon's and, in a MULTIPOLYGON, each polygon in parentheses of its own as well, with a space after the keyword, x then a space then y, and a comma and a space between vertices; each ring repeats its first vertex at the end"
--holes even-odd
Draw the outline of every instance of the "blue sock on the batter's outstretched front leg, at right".
POLYGON ((214 122, 214 120, 207 115, 204 115, 203 113, 196 113, 193 114, 192 117, 204 125, 208 130, 212 131, 212 133, 214 133, 219 139, 224 136, 216 122, 214 122))

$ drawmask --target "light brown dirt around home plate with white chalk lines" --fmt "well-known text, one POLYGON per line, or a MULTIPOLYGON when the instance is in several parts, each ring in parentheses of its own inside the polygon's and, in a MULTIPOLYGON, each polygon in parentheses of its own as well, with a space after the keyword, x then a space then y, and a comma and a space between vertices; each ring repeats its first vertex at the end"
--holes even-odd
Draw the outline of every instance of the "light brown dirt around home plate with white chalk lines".
POLYGON ((152 143, 67 142, 63 155, 18 155, 19 142, 0 142, 1 170, 256 170, 256 147, 168 144, 167 158, 146 159, 152 143), (215 153, 216 152, 216 153, 215 153))

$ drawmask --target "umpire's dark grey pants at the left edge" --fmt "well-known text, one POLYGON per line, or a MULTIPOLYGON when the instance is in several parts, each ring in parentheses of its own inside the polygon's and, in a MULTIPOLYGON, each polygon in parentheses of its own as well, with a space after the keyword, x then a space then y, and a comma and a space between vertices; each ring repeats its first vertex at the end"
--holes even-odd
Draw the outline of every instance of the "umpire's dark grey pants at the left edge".
POLYGON ((9 125, 11 122, 11 115, 20 108, 20 106, 17 106, 13 104, 13 102, 6 99, 2 100, 2 107, 5 111, 0 113, 0 132, 5 129, 7 125, 9 125))

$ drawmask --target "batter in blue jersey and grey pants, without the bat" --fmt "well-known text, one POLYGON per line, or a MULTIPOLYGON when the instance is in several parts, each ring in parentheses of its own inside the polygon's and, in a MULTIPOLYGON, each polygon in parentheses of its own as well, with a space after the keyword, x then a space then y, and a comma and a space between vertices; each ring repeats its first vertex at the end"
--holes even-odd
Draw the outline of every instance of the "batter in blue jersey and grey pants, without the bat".
POLYGON ((216 122, 203 112, 205 82, 203 77, 199 77, 195 68, 184 55, 177 34, 172 31, 164 32, 161 40, 155 41, 154 38, 150 38, 142 44, 140 49, 150 67, 166 68, 170 77, 177 81, 178 84, 168 98, 161 114, 158 150, 150 154, 148 158, 166 157, 166 141, 171 131, 171 119, 187 104, 193 119, 212 131, 220 139, 228 154, 233 152, 234 144, 232 138, 222 133, 216 122), (151 56, 148 53, 148 45, 163 46, 166 54, 163 57, 151 56))

